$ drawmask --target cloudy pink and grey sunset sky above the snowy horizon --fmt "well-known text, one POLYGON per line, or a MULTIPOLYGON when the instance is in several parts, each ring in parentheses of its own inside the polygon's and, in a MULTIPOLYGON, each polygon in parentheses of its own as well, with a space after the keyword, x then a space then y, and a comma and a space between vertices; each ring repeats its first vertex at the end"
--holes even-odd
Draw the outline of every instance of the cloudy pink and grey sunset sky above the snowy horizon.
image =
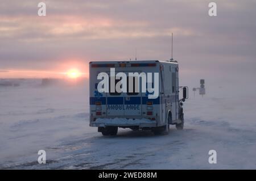
POLYGON ((168 60, 182 76, 256 76, 256 1, 0 0, 0 78, 88 76, 97 60, 168 60), (236 74, 238 73, 238 74, 236 74))

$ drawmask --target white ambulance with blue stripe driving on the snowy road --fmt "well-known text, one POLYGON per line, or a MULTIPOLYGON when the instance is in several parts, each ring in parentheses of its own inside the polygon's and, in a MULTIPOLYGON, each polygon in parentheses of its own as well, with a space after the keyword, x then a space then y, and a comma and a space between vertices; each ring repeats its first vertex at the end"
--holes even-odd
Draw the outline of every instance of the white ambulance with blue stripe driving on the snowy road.
MULTIPOLYGON (((188 98, 188 87, 179 86, 177 61, 93 61, 89 63, 89 77, 90 126, 98 127, 98 132, 104 136, 116 135, 118 127, 130 128, 134 131, 151 130, 155 134, 168 133, 170 124, 176 125, 177 129, 183 129, 182 102, 188 98), (110 88, 105 92, 98 90, 102 81, 98 78, 100 73, 109 75, 107 86, 115 87, 118 84, 120 78, 115 79, 114 82, 110 81, 110 77, 113 77, 110 71, 113 68, 116 75, 125 73, 127 80, 129 78, 133 80, 132 89, 129 89, 129 81, 127 81, 127 92, 110 91, 110 88), (156 89, 155 92, 148 91, 149 89, 143 92, 142 87, 146 82, 142 77, 129 76, 130 73, 152 73, 154 78, 151 87, 158 87, 158 95, 150 97, 156 89), (156 77, 155 73, 159 76, 156 77), (183 92, 181 99, 179 92, 183 92)), ((146 83, 146 86, 148 85, 146 83)))

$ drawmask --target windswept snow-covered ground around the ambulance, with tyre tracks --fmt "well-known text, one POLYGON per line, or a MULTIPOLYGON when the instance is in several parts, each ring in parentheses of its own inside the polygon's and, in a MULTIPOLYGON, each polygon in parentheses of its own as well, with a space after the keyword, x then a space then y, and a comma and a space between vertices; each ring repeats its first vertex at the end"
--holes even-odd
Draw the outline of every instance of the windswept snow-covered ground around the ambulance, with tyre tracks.
POLYGON ((203 98, 191 91, 183 131, 104 137, 89 127, 86 85, 0 87, 0 168, 256 169, 256 89, 231 88, 207 87, 203 98), (46 165, 37 162, 41 149, 46 165), (217 164, 208 163, 212 149, 217 164))

